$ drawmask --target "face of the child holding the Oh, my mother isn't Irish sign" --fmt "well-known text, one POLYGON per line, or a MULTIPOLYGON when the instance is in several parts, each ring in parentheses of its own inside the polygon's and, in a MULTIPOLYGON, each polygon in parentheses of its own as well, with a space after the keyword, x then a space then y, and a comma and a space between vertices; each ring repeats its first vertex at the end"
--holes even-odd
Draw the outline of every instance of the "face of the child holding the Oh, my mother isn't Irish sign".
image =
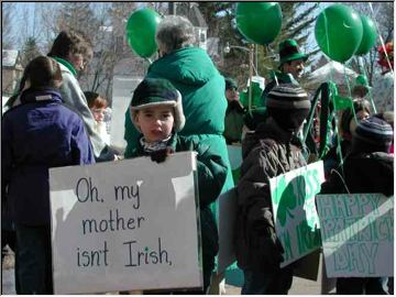
POLYGON ((173 112, 173 107, 168 106, 147 107, 138 112, 136 124, 145 141, 163 141, 170 135, 175 121, 173 112))

